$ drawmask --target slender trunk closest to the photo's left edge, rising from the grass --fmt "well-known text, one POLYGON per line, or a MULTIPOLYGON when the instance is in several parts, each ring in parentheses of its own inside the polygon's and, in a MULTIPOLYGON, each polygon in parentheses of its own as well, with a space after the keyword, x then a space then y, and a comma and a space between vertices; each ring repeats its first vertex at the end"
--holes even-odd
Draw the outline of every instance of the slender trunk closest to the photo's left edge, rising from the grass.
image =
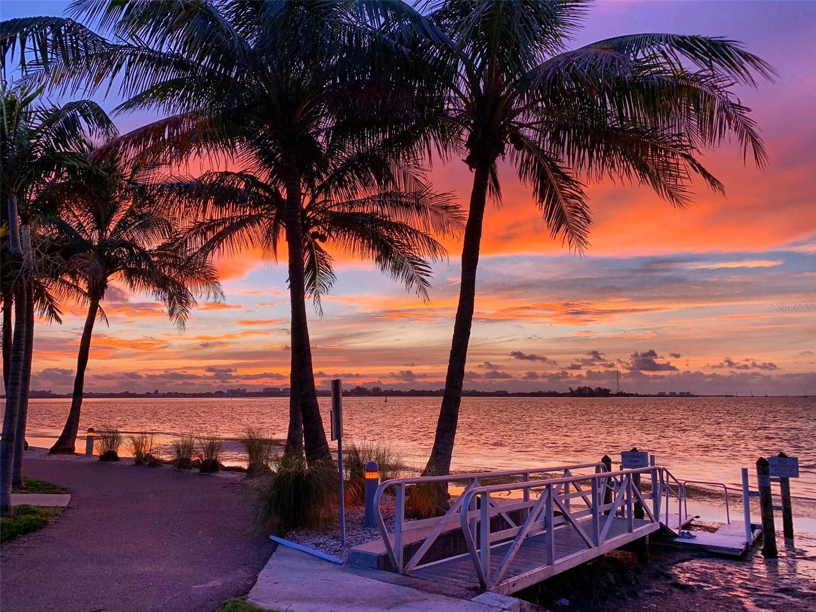
POLYGON ((23 374, 26 308, 26 291, 20 288, 14 297, 11 370, 6 388, 6 410, 3 414, 2 440, 0 440, 0 516, 2 517, 11 516, 11 472, 14 467, 14 437, 17 429, 17 407, 23 374))

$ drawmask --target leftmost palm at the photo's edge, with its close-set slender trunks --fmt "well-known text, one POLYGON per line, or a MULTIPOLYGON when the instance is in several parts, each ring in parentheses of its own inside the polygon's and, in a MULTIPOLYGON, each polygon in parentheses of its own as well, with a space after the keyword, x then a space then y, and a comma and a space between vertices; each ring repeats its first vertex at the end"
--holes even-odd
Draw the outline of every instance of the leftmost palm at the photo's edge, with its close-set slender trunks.
MULTIPOLYGON (((11 479, 16 448, 23 444, 37 298, 36 224, 39 196, 51 180, 84 163, 78 147, 86 135, 109 135, 113 124, 98 104, 78 100, 62 107, 38 104, 42 88, 7 85, 3 47, 0 123, 0 199, 11 260, 14 330, 9 355, 6 406, 0 441, 0 514, 11 513, 11 479)), ((4 278, 4 280, 6 280, 4 278)), ((20 465, 20 457, 17 464, 20 465)))

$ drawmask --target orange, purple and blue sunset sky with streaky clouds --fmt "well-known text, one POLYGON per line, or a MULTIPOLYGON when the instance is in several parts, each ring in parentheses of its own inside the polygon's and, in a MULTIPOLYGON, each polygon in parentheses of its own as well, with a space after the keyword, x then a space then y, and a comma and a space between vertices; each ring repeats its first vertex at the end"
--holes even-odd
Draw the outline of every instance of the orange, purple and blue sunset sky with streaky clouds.
MULTIPOLYGON (((0 11, 56 15, 66 4, 4 0, 0 11)), ((617 368, 626 391, 816 393, 816 3, 600 2, 575 45, 649 31, 734 38, 774 65, 776 82, 739 91, 769 166, 743 166, 736 147, 709 154, 726 195, 699 185, 686 211, 646 188, 593 185, 583 258, 548 237, 529 191, 502 166, 503 207, 486 213, 465 388, 614 388, 617 368), (796 304, 805 309, 785 309, 796 304)), ((150 119, 117 122, 127 131, 150 119)), ((463 162, 435 162, 431 178, 467 204, 463 162)), ((368 264, 339 262, 325 316, 310 321, 318 384, 443 385, 459 290, 460 245, 449 246, 429 304, 368 264)), ((249 253, 219 266, 224 303, 200 304, 184 333, 161 304, 113 286, 86 391, 287 386, 285 260, 249 253)), ((34 389, 73 384, 84 313, 68 309, 63 325, 38 326, 34 389)))

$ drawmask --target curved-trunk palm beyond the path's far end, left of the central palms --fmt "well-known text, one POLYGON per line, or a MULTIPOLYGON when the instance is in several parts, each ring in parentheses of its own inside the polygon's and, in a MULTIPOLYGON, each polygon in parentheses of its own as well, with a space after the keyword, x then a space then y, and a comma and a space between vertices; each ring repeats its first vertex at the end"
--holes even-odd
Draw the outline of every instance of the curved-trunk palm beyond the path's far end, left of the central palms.
POLYGON ((61 246, 64 275, 82 286, 88 304, 71 409, 51 453, 74 452, 91 336, 97 318, 107 322, 101 303, 112 279, 161 299, 181 329, 196 304, 193 294, 221 296, 215 268, 206 257, 169 246, 175 223, 144 182, 152 172, 152 167, 127 165, 111 156, 92 162, 73 180, 51 184, 42 194, 58 210, 46 220, 46 231, 61 246))

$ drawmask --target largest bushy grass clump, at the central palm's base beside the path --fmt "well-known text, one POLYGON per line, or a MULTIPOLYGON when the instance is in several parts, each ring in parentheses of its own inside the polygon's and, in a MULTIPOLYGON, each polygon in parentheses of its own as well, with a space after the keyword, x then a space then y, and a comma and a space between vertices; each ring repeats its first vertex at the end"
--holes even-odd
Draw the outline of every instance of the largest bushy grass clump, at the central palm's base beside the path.
POLYGON ((337 473, 320 462, 309 465, 297 455, 276 457, 273 463, 273 475, 257 481, 255 530, 286 534, 330 523, 337 499, 337 473))

